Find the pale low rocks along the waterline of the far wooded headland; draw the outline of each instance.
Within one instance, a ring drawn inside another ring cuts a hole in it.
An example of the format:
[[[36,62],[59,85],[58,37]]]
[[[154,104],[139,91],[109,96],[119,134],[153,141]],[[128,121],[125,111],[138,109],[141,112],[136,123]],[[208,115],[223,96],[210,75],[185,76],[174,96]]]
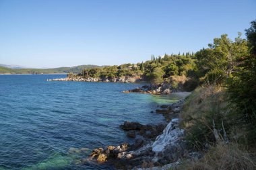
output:
[[[136,77],[119,77],[113,79],[100,79],[100,78],[84,78],[84,77],[66,77],[60,79],[47,79],[47,81],[84,81],[84,82],[117,82],[117,83],[135,83],[141,81]]]

